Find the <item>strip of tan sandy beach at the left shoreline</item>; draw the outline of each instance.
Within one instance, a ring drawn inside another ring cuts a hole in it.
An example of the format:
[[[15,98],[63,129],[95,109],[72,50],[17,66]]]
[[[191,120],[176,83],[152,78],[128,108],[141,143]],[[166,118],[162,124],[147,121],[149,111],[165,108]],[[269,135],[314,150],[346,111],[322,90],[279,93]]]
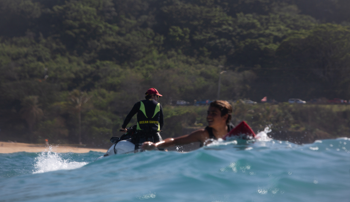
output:
[[[89,151],[106,152],[106,149],[81,148],[65,145],[45,145],[45,144],[27,144],[18,142],[0,142],[0,153],[14,153],[14,152],[42,152],[52,151],[57,153],[86,153]]]

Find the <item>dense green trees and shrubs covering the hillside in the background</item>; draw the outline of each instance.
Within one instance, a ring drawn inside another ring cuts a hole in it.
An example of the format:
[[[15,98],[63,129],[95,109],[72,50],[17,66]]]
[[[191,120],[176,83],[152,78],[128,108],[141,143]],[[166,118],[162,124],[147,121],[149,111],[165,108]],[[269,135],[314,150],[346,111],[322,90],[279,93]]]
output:
[[[180,135],[205,126],[206,107],[170,103],[217,99],[221,71],[220,99],[350,99],[349,8],[348,0],[2,0],[0,140],[105,144],[152,87],[163,95],[162,136]],[[246,107],[235,104],[235,124],[270,126],[276,139],[350,134],[347,108]]]

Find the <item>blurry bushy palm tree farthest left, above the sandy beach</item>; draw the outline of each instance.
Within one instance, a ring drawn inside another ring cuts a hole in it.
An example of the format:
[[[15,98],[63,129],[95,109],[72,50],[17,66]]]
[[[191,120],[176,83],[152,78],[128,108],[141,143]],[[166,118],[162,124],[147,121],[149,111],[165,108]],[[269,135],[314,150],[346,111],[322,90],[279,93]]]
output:
[[[38,96],[27,96],[22,100],[22,108],[20,110],[21,117],[26,120],[28,124],[29,133],[33,135],[33,126],[44,115],[43,111],[39,108]],[[33,139],[31,139],[33,142]]]

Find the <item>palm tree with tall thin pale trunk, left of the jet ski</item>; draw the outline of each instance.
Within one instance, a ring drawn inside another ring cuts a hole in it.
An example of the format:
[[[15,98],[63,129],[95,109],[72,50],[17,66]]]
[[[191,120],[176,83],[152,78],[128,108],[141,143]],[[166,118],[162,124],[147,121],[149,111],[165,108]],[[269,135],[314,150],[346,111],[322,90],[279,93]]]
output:
[[[73,90],[72,92],[69,93],[69,98],[70,98],[70,104],[71,104],[71,109],[73,111],[78,113],[78,118],[79,118],[79,136],[78,136],[78,142],[79,144],[82,144],[82,117],[81,117],[81,112],[83,109],[83,105],[89,101],[89,99],[92,96],[88,96],[86,92],[81,92],[79,90]]]

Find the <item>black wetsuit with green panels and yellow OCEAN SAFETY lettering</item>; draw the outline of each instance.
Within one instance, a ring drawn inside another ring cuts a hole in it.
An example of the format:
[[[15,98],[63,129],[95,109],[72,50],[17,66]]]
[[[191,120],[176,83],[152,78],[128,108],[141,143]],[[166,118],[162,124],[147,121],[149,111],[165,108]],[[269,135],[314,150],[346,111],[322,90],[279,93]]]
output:
[[[135,150],[146,141],[159,142],[162,137],[159,131],[164,125],[163,107],[154,99],[137,102],[126,116],[122,128],[126,128],[131,118],[137,113],[137,133],[132,136]]]

